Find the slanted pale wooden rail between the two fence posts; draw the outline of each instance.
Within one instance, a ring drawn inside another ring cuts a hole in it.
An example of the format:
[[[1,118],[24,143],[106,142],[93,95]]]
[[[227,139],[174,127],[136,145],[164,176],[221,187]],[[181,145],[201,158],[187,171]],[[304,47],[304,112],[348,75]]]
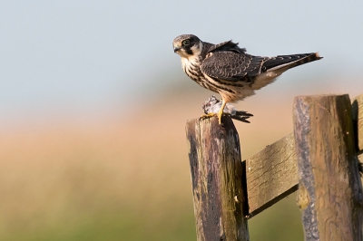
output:
[[[298,189],[295,140],[292,133],[246,159],[249,217]]]

